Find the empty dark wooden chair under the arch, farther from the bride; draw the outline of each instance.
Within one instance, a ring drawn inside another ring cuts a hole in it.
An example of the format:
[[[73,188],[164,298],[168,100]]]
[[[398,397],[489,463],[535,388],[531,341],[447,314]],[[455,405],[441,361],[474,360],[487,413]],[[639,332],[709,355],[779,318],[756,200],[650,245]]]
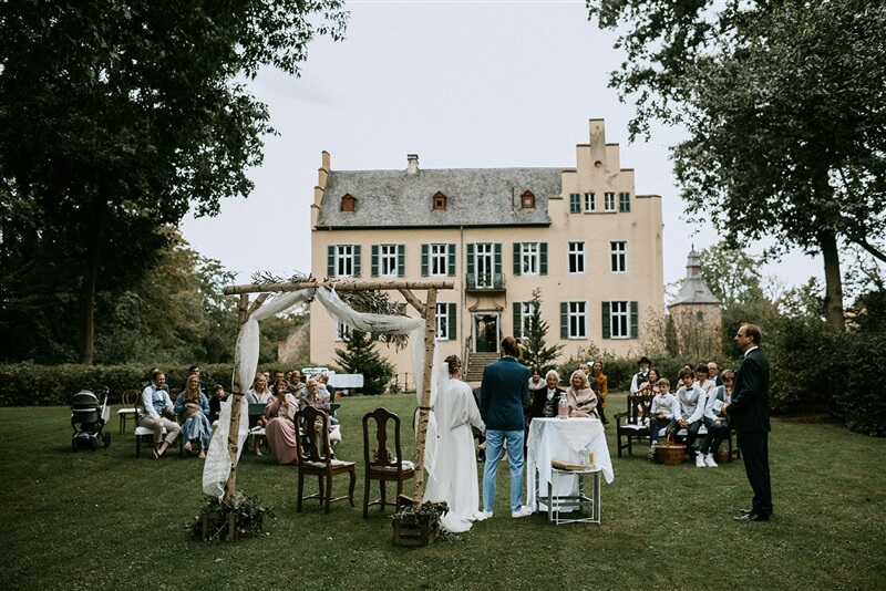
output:
[[[318,421],[320,422],[319,428],[316,426]],[[351,507],[354,507],[353,487],[357,481],[357,465],[353,462],[341,462],[332,457],[329,443],[329,416],[313,406],[306,406],[296,413],[296,424],[305,425],[303,431],[308,438],[307,445],[296,445],[298,453],[298,505],[296,511],[301,512],[301,501],[305,499],[319,499],[321,505],[326,504],[327,514],[329,506],[339,500],[348,499]],[[346,473],[351,478],[348,495],[332,498],[332,477]],[[317,495],[303,496],[306,476],[317,476],[320,484]],[[323,479],[326,479],[326,488]]]

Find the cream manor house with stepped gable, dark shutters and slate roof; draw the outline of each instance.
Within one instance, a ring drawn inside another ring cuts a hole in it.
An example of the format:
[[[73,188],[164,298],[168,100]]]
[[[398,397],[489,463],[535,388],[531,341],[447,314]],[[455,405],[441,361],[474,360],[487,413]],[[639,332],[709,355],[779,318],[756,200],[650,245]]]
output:
[[[436,304],[443,356],[494,359],[503,336],[522,335],[535,289],[562,359],[591,343],[642,353],[645,318],[663,312],[661,198],[636,194],[604,121],[589,125],[574,168],[424,169],[409,155],[405,169],[336,170],[323,152],[313,276],[453,281]],[[315,302],[311,360],[333,362],[344,330]],[[409,350],[380,350],[411,375]]]

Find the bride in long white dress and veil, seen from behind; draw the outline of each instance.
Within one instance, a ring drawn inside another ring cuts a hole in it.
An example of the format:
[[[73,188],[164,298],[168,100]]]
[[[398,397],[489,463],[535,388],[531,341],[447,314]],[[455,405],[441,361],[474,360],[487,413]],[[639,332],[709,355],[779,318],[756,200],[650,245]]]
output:
[[[459,380],[462,360],[450,355],[440,372],[434,412],[437,424],[436,462],[429,474],[424,500],[445,500],[449,512],[441,518],[446,531],[459,533],[471,529],[480,507],[476,454],[471,425],[486,429],[480,418],[471,388]]]

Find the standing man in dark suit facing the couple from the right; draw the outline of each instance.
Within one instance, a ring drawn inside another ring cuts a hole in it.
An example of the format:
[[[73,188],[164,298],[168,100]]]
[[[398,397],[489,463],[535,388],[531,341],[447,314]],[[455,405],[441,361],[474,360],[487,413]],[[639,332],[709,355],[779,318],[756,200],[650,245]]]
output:
[[[766,521],[772,515],[772,485],[769,475],[769,363],[760,351],[763,333],[755,324],[742,324],[735,344],[744,360],[735,373],[732,400],[723,409],[739,433],[744,470],[754,491],[753,507],[742,509],[738,521]]]

